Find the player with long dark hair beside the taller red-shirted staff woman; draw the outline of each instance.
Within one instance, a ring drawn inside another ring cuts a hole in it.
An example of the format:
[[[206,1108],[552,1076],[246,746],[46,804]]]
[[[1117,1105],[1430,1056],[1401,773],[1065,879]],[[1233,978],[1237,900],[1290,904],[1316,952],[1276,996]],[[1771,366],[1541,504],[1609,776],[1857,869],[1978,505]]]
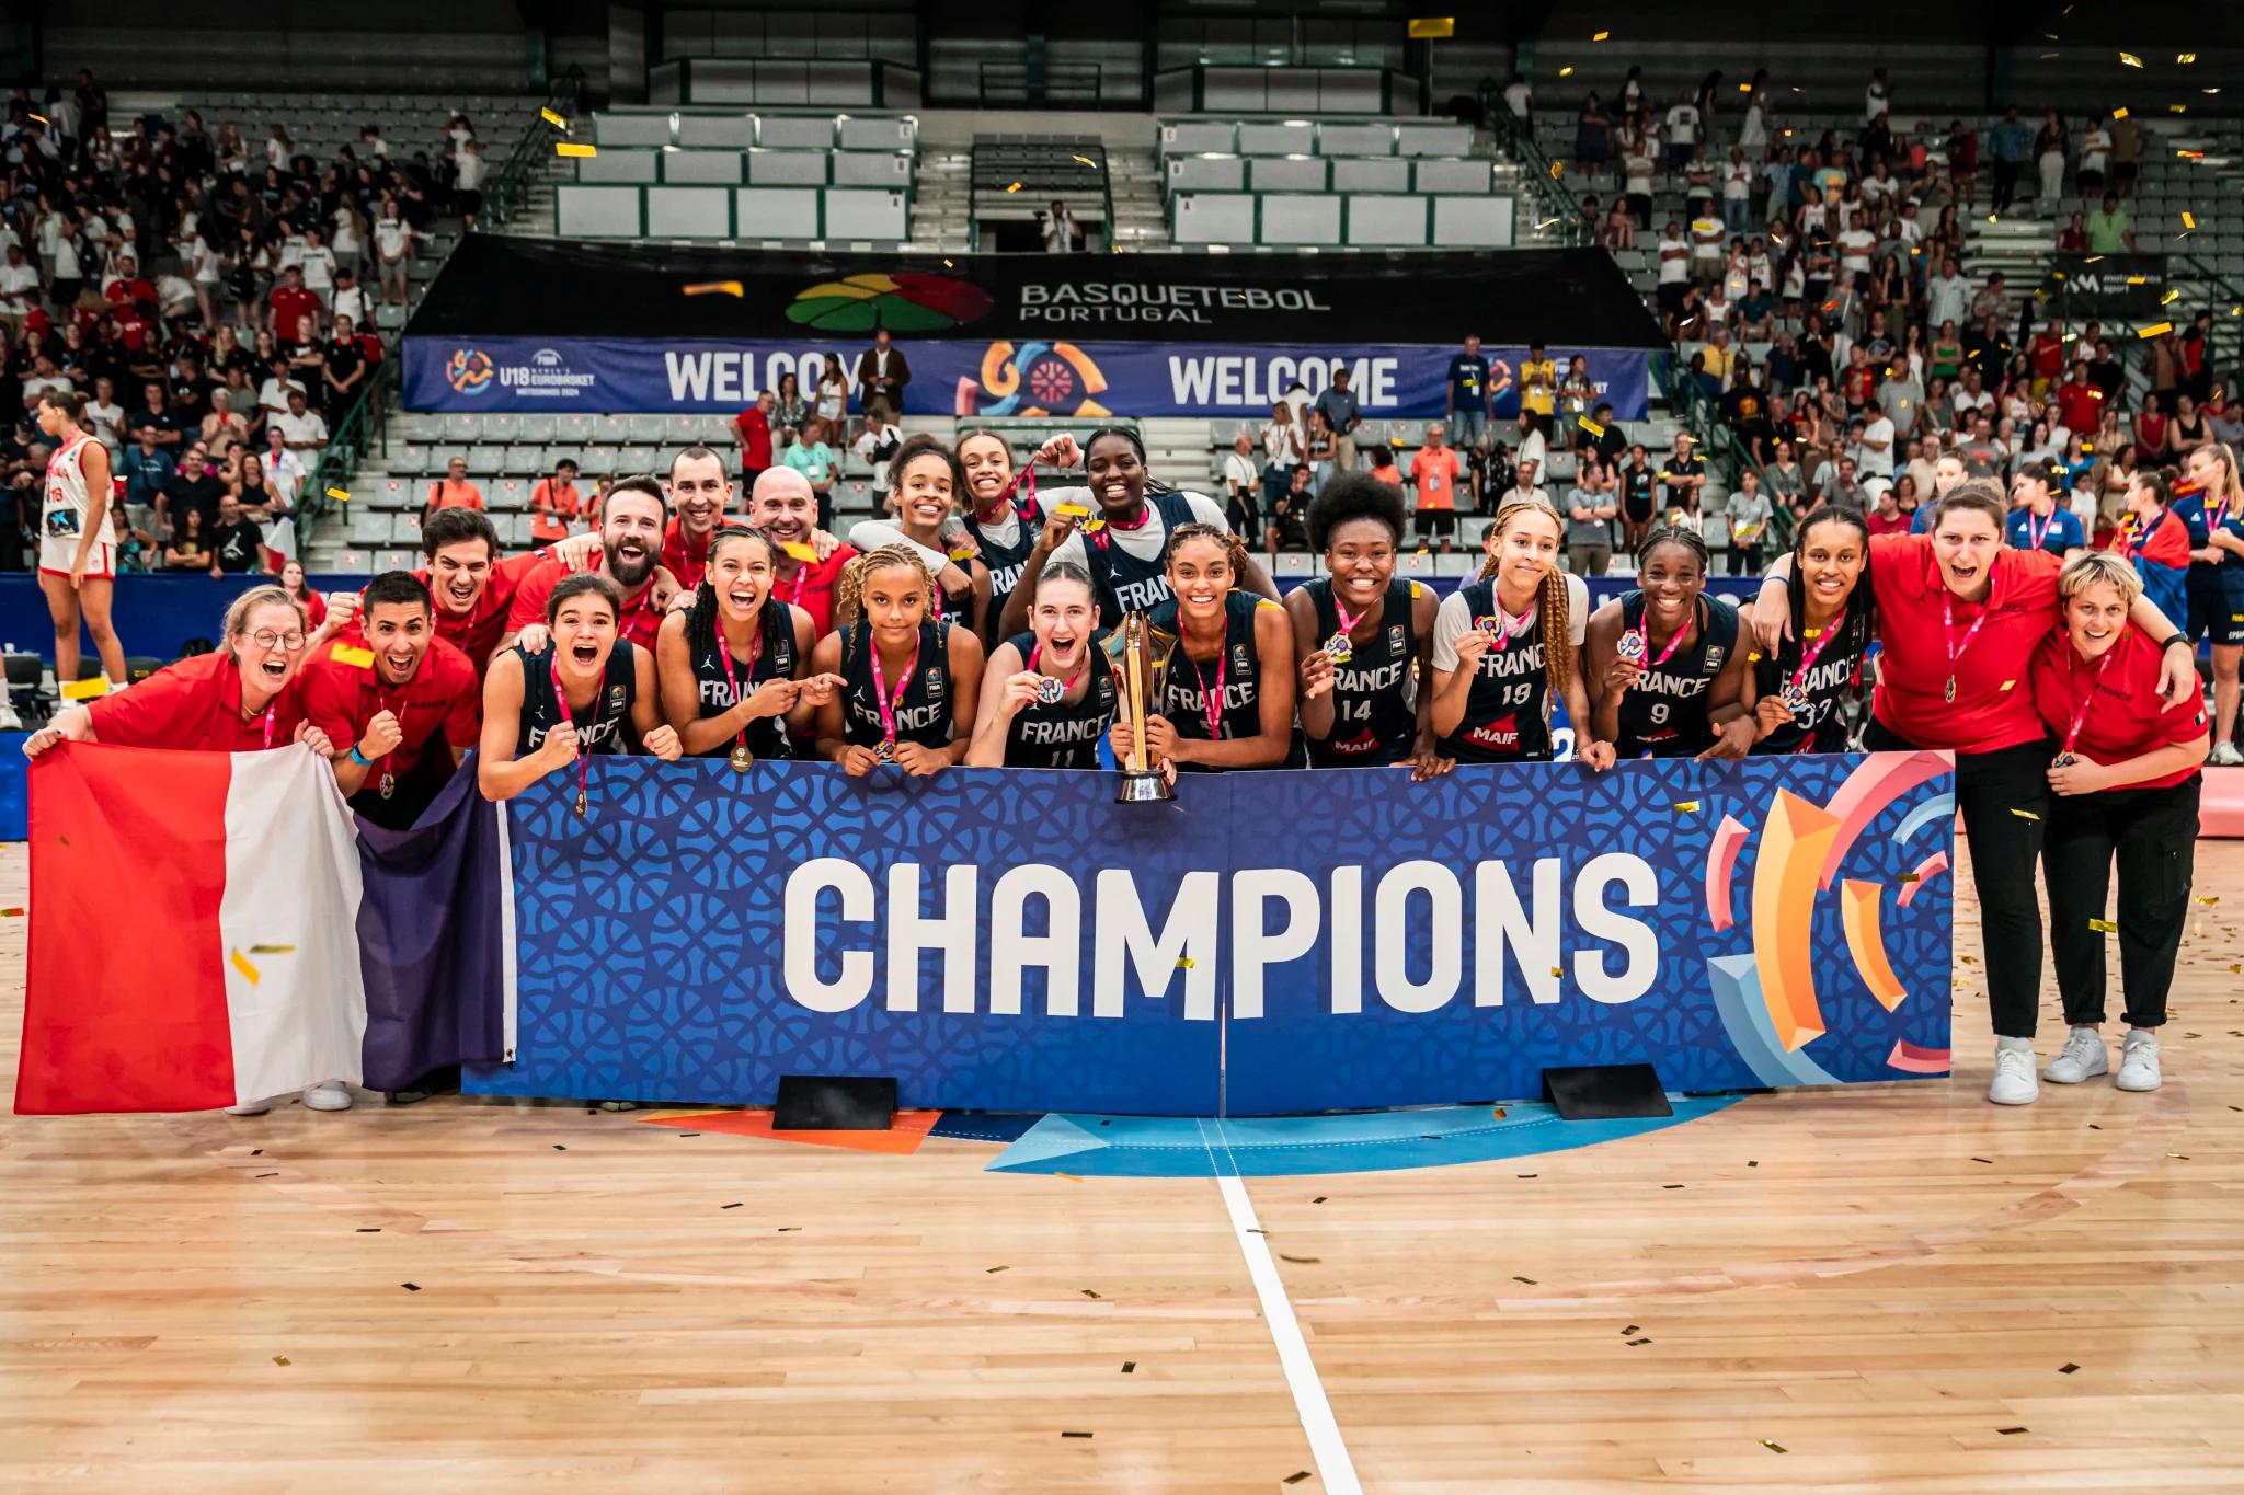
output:
[[[1753,666],[1755,753],[1845,753],[1845,704],[1863,690],[1876,639],[1869,598],[1869,520],[1854,504],[1813,509],[1793,536],[1793,630],[1775,652],[1746,650]]]

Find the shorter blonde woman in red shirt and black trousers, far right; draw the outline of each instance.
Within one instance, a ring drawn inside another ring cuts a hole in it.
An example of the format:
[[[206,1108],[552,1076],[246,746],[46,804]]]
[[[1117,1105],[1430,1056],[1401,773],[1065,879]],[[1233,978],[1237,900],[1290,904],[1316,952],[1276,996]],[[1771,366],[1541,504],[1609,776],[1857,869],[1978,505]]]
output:
[[[2197,796],[2213,733],[2204,699],[2165,706],[2159,646],[2127,623],[2143,583],[2112,551],[2076,556],[2058,576],[2064,625],[2033,652],[2033,706],[2056,733],[2049,764],[2049,950],[2064,1000],[2064,1053],[2044,1080],[2078,1085],[2112,1071],[2105,1018],[2105,912],[2118,867],[2121,993],[2127,1038],[2118,1089],[2159,1089],[2159,1027],[2174,982],[2174,950],[2190,910]]]

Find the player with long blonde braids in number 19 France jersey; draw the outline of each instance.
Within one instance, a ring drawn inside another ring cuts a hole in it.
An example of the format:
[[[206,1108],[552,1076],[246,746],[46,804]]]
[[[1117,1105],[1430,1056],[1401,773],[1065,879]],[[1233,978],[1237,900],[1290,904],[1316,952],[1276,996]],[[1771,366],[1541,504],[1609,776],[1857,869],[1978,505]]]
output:
[[[1582,681],[1589,585],[1557,565],[1557,511],[1530,498],[1506,502],[1481,545],[1481,574],[1434,614],[1436,751],[1454,762],[1548,760],[1551,706],[1564,702],[1575,758],[1611,769],[1613,746],[1591,731]]]

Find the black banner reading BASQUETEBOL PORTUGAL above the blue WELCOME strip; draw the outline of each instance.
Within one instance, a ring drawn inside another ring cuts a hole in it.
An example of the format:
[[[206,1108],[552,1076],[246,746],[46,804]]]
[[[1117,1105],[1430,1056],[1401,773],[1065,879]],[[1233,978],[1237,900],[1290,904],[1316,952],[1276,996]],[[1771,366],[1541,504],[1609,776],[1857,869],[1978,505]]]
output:
[[[898,256],[473,233],[408,338],[1048,338],[1665,347],[1602,249]]]

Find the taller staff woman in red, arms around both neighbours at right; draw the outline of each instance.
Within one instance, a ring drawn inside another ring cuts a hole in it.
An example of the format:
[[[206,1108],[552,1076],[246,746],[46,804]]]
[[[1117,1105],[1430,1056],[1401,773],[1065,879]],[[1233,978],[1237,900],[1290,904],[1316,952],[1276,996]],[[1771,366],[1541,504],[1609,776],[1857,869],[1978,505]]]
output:
[[[2042,912],[2033,867],[2049,816],[2049,744],[2026,686],[2026,661],[2058,619],[2058,558],[2004,545],[2008,504],[1984,480],[1939,500],[1930,536],[1876,536],[1869,585],[1885,661],[1871,695],[1871,751],[1957,755],[1957,807],[1979,890],[1995,1078],[1988,1101],[2026,1105],[2042,988]],[[1771,567],[1755,605],[1762,650],[1788,628],[1791,556]],[[2134,623],[2161,646],[2159,695],[2197,690],[2190,646],[2134,601]]]

